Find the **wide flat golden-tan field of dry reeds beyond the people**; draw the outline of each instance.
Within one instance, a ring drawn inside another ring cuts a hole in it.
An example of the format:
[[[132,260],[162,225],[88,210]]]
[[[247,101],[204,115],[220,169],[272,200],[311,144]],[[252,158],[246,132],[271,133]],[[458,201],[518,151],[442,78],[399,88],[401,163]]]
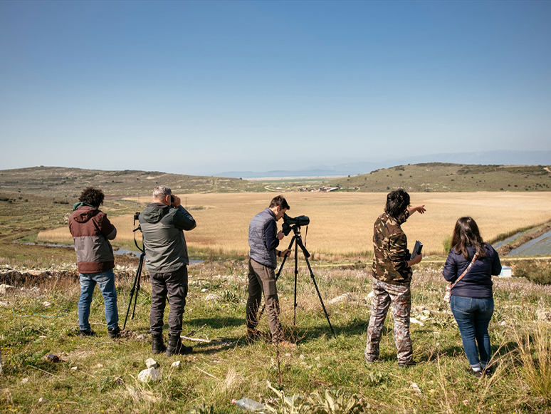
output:
[[[273,193],[189,194],[196,229],[186,232],[190,247],[246,254],[248,223],[267,207]],[[346,255],[372,252],[372,226],[382,213],[386,195],[360,192],[288,192],[291,217],[310,217],[307,247],[316,254]],[[143,200],[143,198],[141,199]],[[182,197],[182,202],[184,198]],[[453,231],[458,217],[470,215],[481,228],[484,239],[519,227],[540,224],[551,219],[551,192],[497,193],[446,192],[411,193],[411,205],[424,204],[426,214],[415,213],[402,225],[409,248],[416,239],[424,244],[426,254],[444,254],[443,240]],[[145,205],[137,206],[142,209]],[[108,213],[108,210],[107,210]],[[118,229],[117,241],[130,242],[132,216],[110,217]],[[282,222],[278,222],[278,226]],[[303,238],[305,229],[303,229]],[[38,234],[43,242],[72,242],[68,228],[51,229]],[[281,246],[287,247],[290,237]]]

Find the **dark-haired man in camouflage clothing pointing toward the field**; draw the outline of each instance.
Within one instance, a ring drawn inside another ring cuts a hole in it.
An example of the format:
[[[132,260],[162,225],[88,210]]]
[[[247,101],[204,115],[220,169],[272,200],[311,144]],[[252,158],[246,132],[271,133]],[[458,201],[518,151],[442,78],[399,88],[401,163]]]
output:
[[[411,266],[421,262],[421,255],[410,260],[407,237],[400,226],[416,211],[423,214],[426,210],[424,205],[410,209],[409,194],[405,190],[389,192],[384,213],[377,218],[373,227],[374,296],[364,353],[367,363],[379,358],[382,327],[392,304],[398,365],[405,367],[414,364],[409,338]]]

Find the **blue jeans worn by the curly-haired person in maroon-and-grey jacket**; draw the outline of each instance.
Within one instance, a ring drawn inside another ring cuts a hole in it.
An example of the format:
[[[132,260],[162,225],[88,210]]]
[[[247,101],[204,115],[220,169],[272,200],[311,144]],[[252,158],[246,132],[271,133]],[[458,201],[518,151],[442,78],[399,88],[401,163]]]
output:
[[[98,284],[105,302],[105,319],[107,329],[119,326],[119,311],[117,309],[117,291],[115,290],[115,274],[113,270],[100,273],[80,273],[80,300],[78,301],[78,325],[80,331],[90,330],[90,304],[95,284]]]

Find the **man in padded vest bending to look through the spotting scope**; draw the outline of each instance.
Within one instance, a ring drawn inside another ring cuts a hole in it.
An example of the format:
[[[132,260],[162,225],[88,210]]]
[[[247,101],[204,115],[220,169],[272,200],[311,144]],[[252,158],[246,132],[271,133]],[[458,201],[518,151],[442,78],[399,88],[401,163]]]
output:
[[[285,237],[278,232],[276,222],[289,209],[283,196],[274,197],[270,206],[256,214],[248,227],[248,299],[247,299],[247,336],[251,339],[260,337],[258,325],[258,306],[264,293],[264,304],[268,315],[268,325],[272,333],[273,343],[293,347],[294,344],[285,341],[279,321],[278,289],[275,286],[275,266],[277,257],[288,257],[290,249],[277,249],[279,241]]]

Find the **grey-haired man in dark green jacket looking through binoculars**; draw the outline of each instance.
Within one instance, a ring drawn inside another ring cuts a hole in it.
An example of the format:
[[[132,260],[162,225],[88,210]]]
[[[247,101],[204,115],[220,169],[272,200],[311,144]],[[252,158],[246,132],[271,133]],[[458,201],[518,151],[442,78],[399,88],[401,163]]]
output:
[[[151,279],[151,312],[149,332],[152,335],[152,352],[172,354],[191,353],[191,346],[182,345],[182,316],[187,296],[187,254],[183,230],[192,230],[196,223],[180,199],[172,195],[169,187],[159,185],[153,190],[152,203],[140,214],[145,268]],[[164,307],[170,304],[168,317],[169,340],[164,346],[162,326]]]

